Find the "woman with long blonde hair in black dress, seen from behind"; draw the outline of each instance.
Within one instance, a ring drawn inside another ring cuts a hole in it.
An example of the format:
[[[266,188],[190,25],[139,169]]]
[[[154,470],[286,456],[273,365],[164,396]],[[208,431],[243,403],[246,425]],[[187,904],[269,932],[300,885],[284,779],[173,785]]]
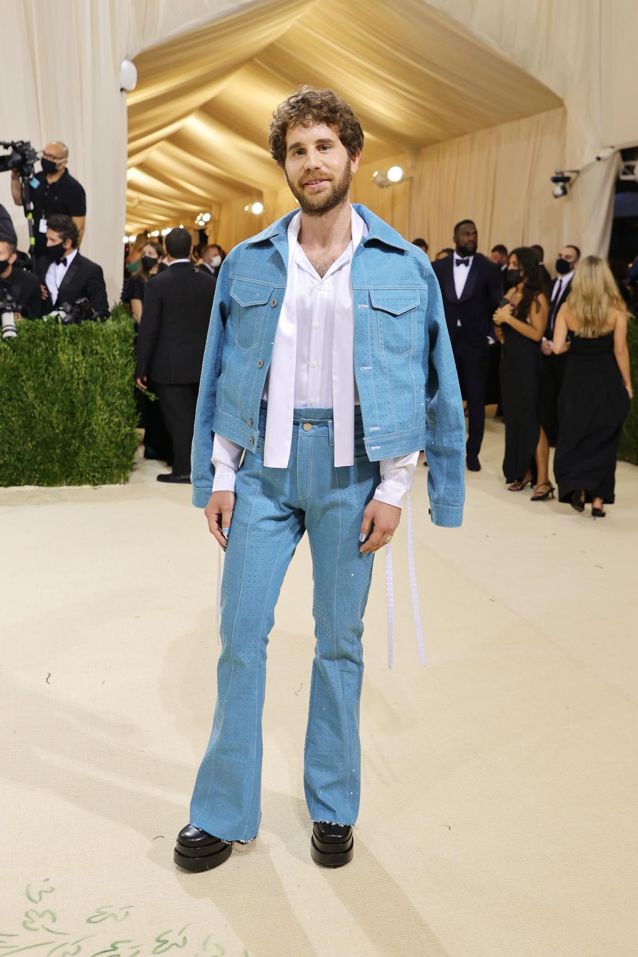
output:
[[[615,498],[616,455],[633,398],[627,350],[627,306],[611,270],[585,256],[556,318],[554,351],[571,340],[559,396],[554,475],[560,501],[604,518]]]

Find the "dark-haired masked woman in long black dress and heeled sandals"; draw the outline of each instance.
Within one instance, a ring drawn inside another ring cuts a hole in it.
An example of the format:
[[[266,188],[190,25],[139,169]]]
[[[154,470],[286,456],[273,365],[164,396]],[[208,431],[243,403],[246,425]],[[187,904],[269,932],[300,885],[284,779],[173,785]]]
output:
[[[549,476],[541,474],[540,340],[547,323],[548,302],[541,292],[539,260],[531,249],[510,253],[507,303],[496,310],[496,336],[502,343],[500,389],[505,417],[503,472],[511,492],[536,483],[533,501],[553,497]]]

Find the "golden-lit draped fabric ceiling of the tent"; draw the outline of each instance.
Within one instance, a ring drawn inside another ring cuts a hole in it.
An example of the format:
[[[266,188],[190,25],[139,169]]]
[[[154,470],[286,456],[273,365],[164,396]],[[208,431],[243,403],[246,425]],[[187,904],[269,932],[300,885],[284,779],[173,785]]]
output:
[[[302,82],[336,89],[377,162],[561,106],[559,97],[422,0],[273,0],[135,58],[127,230],[218,219],[281,189],[273,109]]]

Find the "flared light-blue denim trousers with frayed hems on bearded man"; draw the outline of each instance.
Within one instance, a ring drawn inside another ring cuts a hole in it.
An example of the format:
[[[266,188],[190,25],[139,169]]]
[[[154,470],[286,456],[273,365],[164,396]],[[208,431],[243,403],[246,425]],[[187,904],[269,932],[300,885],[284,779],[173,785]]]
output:
[[[363,612],[374,560],[361,554],[359,534],[380,473],[365,455],[359,407],[354,464],[335,468],[332,418],[331,409],[296,409],[288,468],[265,468],[262,403],[257,448],[237,473],[221,588],[217,701],[190,804],[190,823],[224,840],[247,843],[259,830],[266,650],[279,590],[304,531],[316,642],[303,788],[312,820],[357,820]]]

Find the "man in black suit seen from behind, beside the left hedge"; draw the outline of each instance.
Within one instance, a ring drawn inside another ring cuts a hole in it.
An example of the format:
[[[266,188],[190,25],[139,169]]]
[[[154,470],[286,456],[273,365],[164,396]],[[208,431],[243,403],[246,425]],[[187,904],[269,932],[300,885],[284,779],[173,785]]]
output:
[[[191,246],[185,229],[166,235],[168,268],[146,283],[138,333],[136,382],[146,389],[152,379],[173,441],[173,471],[158,481],[190,481],[195,407],[216,285],[193,267]]]

